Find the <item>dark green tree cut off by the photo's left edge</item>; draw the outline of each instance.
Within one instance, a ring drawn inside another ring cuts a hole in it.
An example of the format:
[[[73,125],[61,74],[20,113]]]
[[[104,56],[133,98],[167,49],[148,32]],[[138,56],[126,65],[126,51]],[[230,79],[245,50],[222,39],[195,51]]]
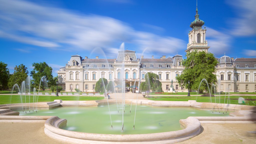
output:
[[[0,61],[0,89],[5,90],[8,85],[10,77],[9,69],[7,68],[7,64]]]

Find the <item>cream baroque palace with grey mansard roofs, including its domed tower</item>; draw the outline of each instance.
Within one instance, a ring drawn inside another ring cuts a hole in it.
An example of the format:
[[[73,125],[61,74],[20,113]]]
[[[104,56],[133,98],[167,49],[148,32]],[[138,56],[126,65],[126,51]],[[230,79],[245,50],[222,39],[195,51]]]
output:
[[[185,52],[193,50],[208,52],[206,29],[202,28],[204,21],[199,19],[198,9],[196,8],[195,20],[191,22],[192,28],[188,34],[188,44]],[[215,74],[220,81],[218,90],[223,92],[256,92],[256,58],[231,58],[222,56],[216,58],[218,64]],[[145,81],[145,74],[155,73],[159,76],[164,92],[168,92],[171,81],[173,80],[174,89],[177,92],[187,92],[183,86],[179,86],[176,76],[184,70],[182,66],[182,56],[174,57],[162,56],[161,58],[138,58],[135,51],[119,51],[115,59],[84,58],[79,55],[71,56],[68,64],[58,71],[59,84],[66,91],[75,88],[83,92],[94,92],[95,84],[100,78],[114,81],[115,85],[136,87],[140,82]],[[117,89],[117,88],[116,88]],[[129,90],[129,88],[127,88]]]

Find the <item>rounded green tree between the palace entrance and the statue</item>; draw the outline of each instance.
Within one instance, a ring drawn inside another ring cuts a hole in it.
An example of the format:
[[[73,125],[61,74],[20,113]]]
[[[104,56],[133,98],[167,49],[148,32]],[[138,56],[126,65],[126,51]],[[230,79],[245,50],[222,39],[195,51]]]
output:
[[[145,82],[140,84],[142,91],[149,91],[152,89],[153,92],[162,92],[162,83],[158,80],[159,77],[154,73],[146,73]]]

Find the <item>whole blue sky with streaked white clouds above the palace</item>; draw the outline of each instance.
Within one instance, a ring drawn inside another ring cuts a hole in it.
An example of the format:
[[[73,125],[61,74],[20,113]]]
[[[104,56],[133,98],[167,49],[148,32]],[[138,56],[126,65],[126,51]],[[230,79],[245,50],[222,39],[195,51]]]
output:
[[[198,0],[209,51],[216,57],[256,57],[255,0]],[[71,55],[116,58],[120,45],[140,58],[185,58],[194,1],[0,0],[0,61],[10,73],[45,61],[53,75]]]

